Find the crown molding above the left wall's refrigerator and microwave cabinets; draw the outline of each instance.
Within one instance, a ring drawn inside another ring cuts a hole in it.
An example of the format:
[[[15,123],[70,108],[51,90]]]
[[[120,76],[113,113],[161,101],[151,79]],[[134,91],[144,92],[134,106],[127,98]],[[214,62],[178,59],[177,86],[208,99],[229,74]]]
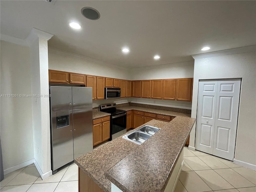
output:
[[[54,48],[54,47],[51,47],[51,46],[48,46],[48,52],[52,52],[52,53],[56,53],[56,54],[60,54],[60,55],[65,55],[65,56],[69,56],[69,57],[72,57],[72,58],[76,58],[76,59],[80,59],[80,60],[84,60],[84,61],[88,61],[88,62],[93,62],[93,63],[97,63],[97,64],[104,65],[104,66],[110,66],[110,67],[120,68],[120,69],[125,69],[125,70],[128,69],[128,68],[116,66],[114,64],[110,64],[108,62],[104,62],[104,61],[101,61],[101,60],[98,60],[98,59],[94,59],[94,58],[91,58],[91,57],[87,57],[87,56],[79,55],[79,54],[76,54],[76,53],[60,50],[58,48]]]

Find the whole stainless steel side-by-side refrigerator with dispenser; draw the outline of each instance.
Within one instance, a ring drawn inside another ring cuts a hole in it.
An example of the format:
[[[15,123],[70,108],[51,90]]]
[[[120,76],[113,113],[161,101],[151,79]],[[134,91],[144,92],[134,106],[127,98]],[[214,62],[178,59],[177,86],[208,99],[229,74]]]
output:
[[[92,88],[50,86],[52,172],[92,150]]]

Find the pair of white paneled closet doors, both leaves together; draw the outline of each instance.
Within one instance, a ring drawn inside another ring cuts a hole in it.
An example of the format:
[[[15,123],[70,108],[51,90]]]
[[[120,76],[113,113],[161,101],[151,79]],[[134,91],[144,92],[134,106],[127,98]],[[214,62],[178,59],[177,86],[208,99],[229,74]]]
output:
[[[234,160],[240,79],[200,81],[196,149]]]

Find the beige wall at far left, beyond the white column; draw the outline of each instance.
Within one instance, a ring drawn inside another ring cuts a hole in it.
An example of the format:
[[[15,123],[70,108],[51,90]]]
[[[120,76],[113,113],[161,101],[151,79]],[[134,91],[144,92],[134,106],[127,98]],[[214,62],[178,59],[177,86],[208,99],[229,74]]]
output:
[[[30,50],[1,41],[1,94],[31,94]],[[4,170],[34,159],[32,98],[1,97]]]

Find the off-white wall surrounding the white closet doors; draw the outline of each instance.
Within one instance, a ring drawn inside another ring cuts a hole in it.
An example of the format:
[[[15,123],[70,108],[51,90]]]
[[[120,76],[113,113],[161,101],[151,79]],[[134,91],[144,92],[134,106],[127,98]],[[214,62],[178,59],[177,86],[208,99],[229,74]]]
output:
[[[196,118],[198,82],[200,79],[242,78],[238,128],[236,136],[236,163],[256,168],[256,52],[229,54],[195,60],[192,117]],[[194,147],[196,126],[190,134]]]

